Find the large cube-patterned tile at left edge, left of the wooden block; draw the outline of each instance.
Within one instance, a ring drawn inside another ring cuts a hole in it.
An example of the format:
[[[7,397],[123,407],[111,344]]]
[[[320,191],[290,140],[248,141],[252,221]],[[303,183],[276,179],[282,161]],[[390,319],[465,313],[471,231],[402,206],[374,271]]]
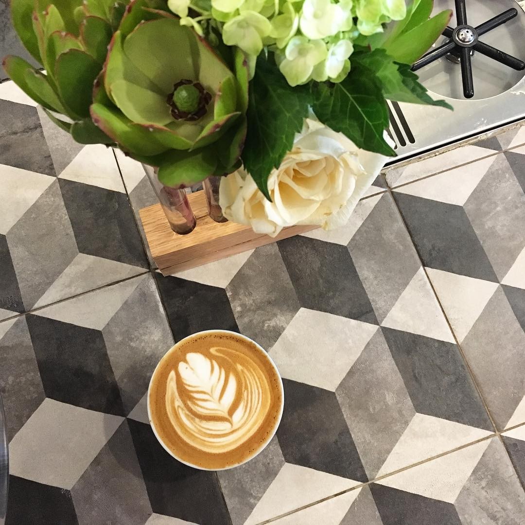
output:
[[[112,150],[76,144],[13,86],[0,84],[0,319],[148,268]]]

